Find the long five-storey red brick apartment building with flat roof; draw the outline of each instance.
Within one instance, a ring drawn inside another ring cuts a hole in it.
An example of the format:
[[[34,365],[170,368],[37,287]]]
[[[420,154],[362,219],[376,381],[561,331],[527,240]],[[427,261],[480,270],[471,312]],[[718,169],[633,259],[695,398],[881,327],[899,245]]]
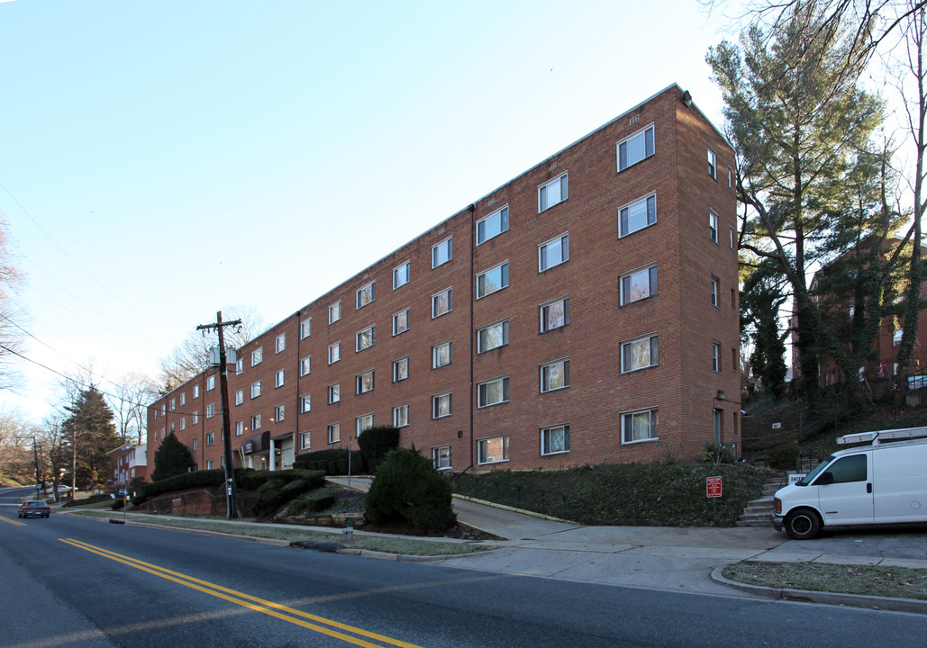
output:
[[[674,84],[479,198],[238,349],[235,465],[383,424],[452,471],[739,453],[733,165]],[[170,432],[222,466],[215,369]]]

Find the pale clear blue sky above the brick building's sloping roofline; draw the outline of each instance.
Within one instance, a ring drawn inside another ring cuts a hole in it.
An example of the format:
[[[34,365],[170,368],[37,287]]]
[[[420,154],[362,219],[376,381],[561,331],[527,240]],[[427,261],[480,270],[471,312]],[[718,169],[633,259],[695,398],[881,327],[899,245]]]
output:
[[[673,82],[721,127],[730,27],[695,0],[0,2],[25,355],[154,375],[223,306],[285,318]],[[57,376],[19,367],[0,407],[38,420]]]

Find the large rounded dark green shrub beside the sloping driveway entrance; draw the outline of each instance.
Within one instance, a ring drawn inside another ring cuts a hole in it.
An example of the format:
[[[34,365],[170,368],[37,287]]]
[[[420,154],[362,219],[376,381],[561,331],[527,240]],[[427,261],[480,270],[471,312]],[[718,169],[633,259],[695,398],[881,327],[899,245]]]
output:
[[[416,530],[431,531],[457,522],[451,482],[414,448],[389,451],[370,484],[364,508],[364,517],[374,524],[403,520]]]

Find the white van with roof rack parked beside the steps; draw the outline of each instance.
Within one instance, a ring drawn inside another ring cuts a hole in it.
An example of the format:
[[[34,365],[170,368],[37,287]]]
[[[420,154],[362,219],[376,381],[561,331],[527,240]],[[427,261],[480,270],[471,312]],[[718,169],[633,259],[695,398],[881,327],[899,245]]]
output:
[[[840,450],[776,492],[772,526],[795,540],[821,527],[927,522],[927,427],[847,434]]]

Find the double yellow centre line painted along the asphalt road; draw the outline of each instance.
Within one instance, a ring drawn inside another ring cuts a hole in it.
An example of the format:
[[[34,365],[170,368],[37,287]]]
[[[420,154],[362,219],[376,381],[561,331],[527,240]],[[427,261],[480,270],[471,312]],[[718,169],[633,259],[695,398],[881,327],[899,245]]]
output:
[[[12,522],[12,520],[6,521]],[[416,646],[413,643],[400,642],[399,640],[391,639],[381,634],[376,634],[375,632],[369,632],[361,628],[354,628],[353,626],[339,623],[338,621],[333,621],[332,619],[318,617],[308,612],[303,612],[302,610],[297,610],[292,607],[287,607],[286,605],[273,603],[273,601],[267,601],[265,599],[258,598],[257,596],[251,596],[250,594],[246,594],[244,592],[236,592],[235,590],[222,587],[222,585],[216,585],[215,583],[210,583],[207,580],[195,579],[192,576],[186,576],[180,572],[171,571],[171,569],[158,567],[157,565],[152,565],[151,563],[137,560],[128,555],[117,554],[115,552],[108,551],[107,549],[96,547],[93,544],[87,544],[86,542],[80,542],[70,538],[61,538],[59,540],[61,542],[70,544],[73,547],[77,547],[78,549],[83,549],[84,551],[90,552],[91,554],[101,555],[104,558],[109,558],[110,560],[113,560],[117,563],[122,563],[123,565],[128,565],[129,567],[140,569],[162,579],[171,580],[171,582],[184,585],[184,587],[197,590],[197,592],[210,594],[216,598],[222,599],[223,601],[241,605],[242,607],[247,607],[249,610],[260,612],[261,614],[265,614],[268,617],[279,618],[283,621],[287,621],[302,628],[311,629],[315,632],[321,632],[322,634],[329,637],[334,637],[335,639],[340,639],[344,642],[353,643],[357,646],[365,646],[365,648],[383,648],[383,645],[386,644],[390,646],[399,646],[399,648],[419,648],[419,646]],[[368,642],[365,639],[362,639],[362,637],[379,643]]]

